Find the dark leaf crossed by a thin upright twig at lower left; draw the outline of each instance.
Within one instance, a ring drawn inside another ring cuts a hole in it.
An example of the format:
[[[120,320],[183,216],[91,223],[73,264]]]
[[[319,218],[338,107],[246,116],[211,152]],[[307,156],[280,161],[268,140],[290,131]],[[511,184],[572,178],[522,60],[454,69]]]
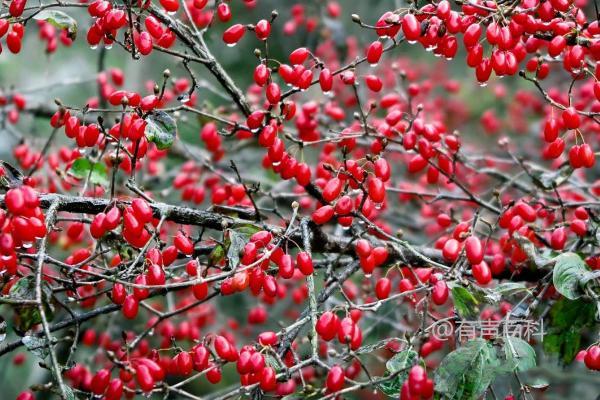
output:
[[[9,296],[17,300],[35,300],[35,277],[26,276],[19,279],[9,291]],[[42,282],[42,300],[44,303],[44,311],[46,312],[46,318],[51,321],[54,317],[54,308],[49,303],[49,299],[52,297],[52,289],[46,282]],[[18,332],[26,332],[31,329],[34,325],[42,322],[40,310],[36,305],[23,304],[16,305],[14,307],[15,313],[17,314],[15,329]]]

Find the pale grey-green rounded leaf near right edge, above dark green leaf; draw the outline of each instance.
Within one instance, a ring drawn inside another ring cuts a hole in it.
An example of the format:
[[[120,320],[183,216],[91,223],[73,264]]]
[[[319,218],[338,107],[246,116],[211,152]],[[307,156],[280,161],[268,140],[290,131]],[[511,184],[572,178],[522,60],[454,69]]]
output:
[[[589,271],[585,262],[575,253],[563,253],[554,261],[552,281],[556,290],[569,300],[581,297],[579,282]]]

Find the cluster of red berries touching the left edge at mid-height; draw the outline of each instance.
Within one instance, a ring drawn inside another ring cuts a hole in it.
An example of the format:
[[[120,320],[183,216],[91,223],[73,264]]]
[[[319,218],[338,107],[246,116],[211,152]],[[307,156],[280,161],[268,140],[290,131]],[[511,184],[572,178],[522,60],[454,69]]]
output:
[[[17,272],[16,250],[29,248],[46,236],[44,214],[35,190],[27,185],[9,189],[0,210],[0,267],[10,275]]]

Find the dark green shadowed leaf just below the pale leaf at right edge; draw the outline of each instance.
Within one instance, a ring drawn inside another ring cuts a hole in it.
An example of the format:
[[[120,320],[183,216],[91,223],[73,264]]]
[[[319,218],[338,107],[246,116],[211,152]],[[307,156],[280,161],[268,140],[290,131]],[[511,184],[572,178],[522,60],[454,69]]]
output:
[[[561,298],[550,309],[544,336],[544,350],[557,354],[569,364],[580,350],[583,328],[595,321],[596,306],[581,299]]]

